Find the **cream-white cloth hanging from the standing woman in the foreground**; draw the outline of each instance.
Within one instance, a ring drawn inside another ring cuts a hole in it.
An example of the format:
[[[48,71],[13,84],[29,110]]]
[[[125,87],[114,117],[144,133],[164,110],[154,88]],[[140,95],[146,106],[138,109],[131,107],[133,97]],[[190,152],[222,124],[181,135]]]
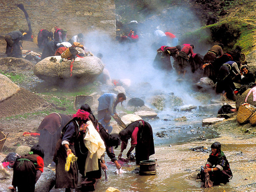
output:
[[[86,130],[86,136],[83,139],[84,145],[86,145],[86,147],[88,148],[86,166],[84,169],[85,175],[87,172],[99,169],[98,159],[100,159],[100,157],[105,152],[104,141],[101,139],[99,133],[93,126],[92,121],[87,121],[87,125],[88,127]]]

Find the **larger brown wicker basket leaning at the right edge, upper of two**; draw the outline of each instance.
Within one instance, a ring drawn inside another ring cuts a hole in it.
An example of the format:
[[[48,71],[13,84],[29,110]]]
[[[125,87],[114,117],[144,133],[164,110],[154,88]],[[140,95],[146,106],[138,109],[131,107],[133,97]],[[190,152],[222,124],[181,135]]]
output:
[[[239,106],[237,120],[239,123],[245,123],[256,111],[255,106],[244,103]]]

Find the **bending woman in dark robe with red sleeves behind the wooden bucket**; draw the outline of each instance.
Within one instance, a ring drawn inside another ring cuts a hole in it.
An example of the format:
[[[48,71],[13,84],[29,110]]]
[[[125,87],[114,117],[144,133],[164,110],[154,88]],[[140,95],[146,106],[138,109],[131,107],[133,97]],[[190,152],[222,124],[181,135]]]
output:
[[[125,150],[130,138],[131,148],[126,156],[129,157],[135,148],[136,164],[140,164],[140,161],[149,160],[150,156],[155,154],[153,131],[150,123],[143,120],[132,122],[119,133],[119,136],[122,140],[119,159],[122,157],[123,150]]]

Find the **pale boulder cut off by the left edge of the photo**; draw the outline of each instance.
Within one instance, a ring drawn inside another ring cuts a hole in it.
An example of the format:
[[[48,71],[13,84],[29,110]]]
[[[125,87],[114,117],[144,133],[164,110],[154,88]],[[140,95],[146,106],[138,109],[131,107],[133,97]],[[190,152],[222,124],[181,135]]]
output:
[[[0,82],[1,82],[0,101],[3,101],[11,97],[13,94],[15,94],[19,90],[19,87],[5,75],[0,74]]]

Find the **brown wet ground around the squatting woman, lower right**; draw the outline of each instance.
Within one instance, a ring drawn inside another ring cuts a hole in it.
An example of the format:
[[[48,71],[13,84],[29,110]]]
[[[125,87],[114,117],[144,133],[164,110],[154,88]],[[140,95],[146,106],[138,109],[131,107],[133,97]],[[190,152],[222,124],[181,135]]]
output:
[[[207,146],[212,142],[222,143],[222,149],[227,156],[233,173],[233,178],[225,185],[212,188],[202,188],[203,183],[196,180],[188,180],[191,173],[198,173],[200,165],[206,162],[209,154],[195,152],[191,147]],[[96,192],[105,191],[112,186],[120,191],[256,191],[256,168],[254,149],[255,138],[230,137],[223,134],[222,137],[192,143],[184,143],[172,146],[157,146],[156,154],[151,157],[157,161],[157,174],[153,176],[140,176],[134,173],[137,167],[135,163],[123,165],[126,173],[117,175],[115,166],[108,165],[108,181],[102,172],[102,178],[97,182]],[[108,161],[108,160],[107,160]],[[52,189],[51,191],[64,191]],[[76,190],[82,191],[82,190]]]

